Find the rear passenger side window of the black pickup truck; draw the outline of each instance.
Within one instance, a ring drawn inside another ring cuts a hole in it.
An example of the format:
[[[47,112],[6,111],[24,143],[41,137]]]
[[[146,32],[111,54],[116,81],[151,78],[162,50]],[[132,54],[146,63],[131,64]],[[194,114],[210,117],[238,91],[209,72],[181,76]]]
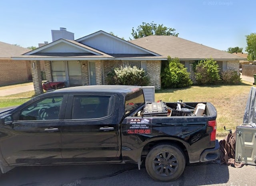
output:
[[[74,96],[71,119],[94,119],[111,114],[111,96],[78,95]]]

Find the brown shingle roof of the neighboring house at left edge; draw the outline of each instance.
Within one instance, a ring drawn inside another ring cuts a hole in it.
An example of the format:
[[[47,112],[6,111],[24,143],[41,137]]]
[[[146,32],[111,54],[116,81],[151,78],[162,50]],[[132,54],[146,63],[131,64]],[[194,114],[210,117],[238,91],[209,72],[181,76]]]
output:
[[[30,49],[0,42],[0,58],[11,58],[12,56],[21,55],[28,51]]]

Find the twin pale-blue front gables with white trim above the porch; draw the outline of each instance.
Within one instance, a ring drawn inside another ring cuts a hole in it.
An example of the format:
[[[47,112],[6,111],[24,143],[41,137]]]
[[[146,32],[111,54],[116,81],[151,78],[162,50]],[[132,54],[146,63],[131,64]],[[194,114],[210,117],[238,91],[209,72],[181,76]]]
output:
[[[104,44],[109,42],[117,50],[124,47],[124,50],[121,49],[120,51],[128,52],[106,53],[101,49],[104,47],[108,49],[108,47],[106,45],[103,47],[102,42]],[[127,48],[128,50],[126,50]],[[16,60],[162,60],[164,57],[106,32],[98,31],[76,41],[59,39],[12,58]]]

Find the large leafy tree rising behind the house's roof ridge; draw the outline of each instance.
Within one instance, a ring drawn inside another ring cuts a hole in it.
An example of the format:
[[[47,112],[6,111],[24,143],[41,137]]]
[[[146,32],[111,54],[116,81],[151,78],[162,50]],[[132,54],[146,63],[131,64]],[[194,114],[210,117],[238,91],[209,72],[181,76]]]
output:
[[[158,36],[177,36],[178,33],[174,32],[174,28],[168,28],[163,24],[157,25],[153,21],[151,23],[142,22],[136,31],[132,28],[132,37],[134,39],[143,38],[145,36],[158,35]]]

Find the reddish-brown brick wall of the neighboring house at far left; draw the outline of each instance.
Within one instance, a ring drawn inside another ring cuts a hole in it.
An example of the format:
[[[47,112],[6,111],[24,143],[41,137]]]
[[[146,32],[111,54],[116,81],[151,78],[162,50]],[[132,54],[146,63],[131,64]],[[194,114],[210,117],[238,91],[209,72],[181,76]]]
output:
[[[29,61],[0,59],[0,85],[28,82],[31,79]]]

